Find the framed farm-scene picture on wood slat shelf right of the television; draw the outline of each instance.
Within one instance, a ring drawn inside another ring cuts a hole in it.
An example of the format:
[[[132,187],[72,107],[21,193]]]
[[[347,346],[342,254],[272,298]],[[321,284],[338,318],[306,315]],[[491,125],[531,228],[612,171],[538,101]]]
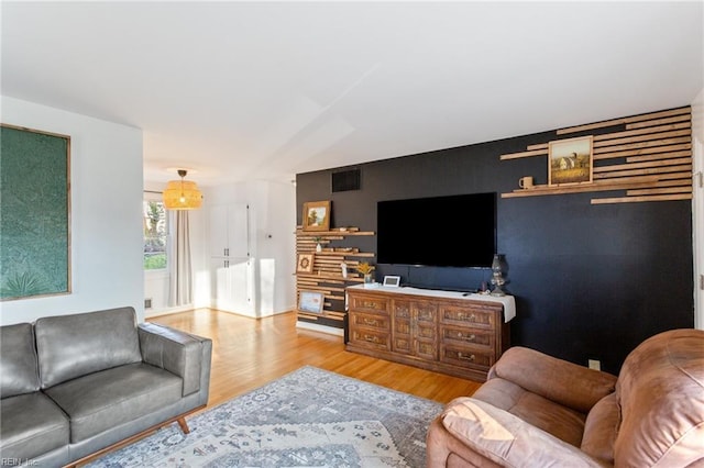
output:
[[[549,143],[548,185],[561,186],[592,181],[593,136]]]

